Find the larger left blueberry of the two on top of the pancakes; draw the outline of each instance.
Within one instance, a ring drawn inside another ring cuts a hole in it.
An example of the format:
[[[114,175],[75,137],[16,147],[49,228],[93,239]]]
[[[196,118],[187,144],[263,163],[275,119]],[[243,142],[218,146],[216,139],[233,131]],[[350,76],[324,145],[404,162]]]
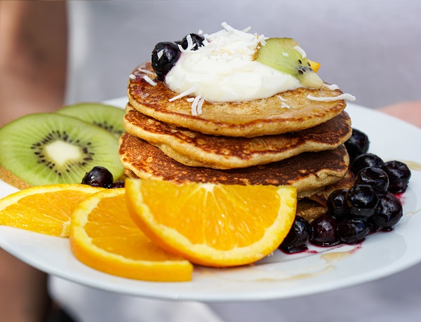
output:
[[[175,65],[180,57],[180,49],[176,43],[164,41],[156,43],[152,51],[152,68],[155,74],[163,78]]]

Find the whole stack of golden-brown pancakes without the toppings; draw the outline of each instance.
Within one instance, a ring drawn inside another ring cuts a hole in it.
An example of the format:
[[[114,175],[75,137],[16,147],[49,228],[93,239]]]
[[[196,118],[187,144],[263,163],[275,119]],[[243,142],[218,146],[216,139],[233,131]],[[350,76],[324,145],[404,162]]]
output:
[[[138,67],[128,84],[119,154],[129,177],[293,185],[297,214],[309,221],[326,213],[330,192],[352,186],[345,100],[307,98],[340,90],[298,88],[249,102],[204,102],[201,114],[192,115],[192,98],[173,100],[178,93],[148,71],[149,64]]]

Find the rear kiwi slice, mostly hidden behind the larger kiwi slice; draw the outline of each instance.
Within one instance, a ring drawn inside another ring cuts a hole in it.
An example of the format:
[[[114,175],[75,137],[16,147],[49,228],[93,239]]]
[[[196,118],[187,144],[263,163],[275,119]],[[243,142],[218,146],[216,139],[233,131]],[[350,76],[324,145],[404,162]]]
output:
[[[68,115],[104,128],[116,137],[124,133],[124,109],[101,103],[79,103],[62,107],[58,114]]]

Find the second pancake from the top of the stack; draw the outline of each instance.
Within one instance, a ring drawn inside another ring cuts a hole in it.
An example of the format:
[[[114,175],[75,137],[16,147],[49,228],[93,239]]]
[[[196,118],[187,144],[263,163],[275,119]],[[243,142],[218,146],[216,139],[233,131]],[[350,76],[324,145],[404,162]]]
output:
[[[206,135],[168,125],[126,107],[123,125],[185,166],[216,169],[246,168],[288,159],[302,152],[335,149],[352,134],[351,120],[344,111],[335,118],[300,132],[261,137]]]

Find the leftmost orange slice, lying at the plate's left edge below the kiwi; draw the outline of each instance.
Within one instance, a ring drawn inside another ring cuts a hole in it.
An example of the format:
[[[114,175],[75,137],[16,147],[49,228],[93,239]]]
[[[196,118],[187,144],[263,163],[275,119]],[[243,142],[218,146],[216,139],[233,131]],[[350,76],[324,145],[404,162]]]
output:
[[[70,215],[81,199],[102,190],[88,185],[44,185],[15,192],[0,200],[0,224],[69,236]]]

